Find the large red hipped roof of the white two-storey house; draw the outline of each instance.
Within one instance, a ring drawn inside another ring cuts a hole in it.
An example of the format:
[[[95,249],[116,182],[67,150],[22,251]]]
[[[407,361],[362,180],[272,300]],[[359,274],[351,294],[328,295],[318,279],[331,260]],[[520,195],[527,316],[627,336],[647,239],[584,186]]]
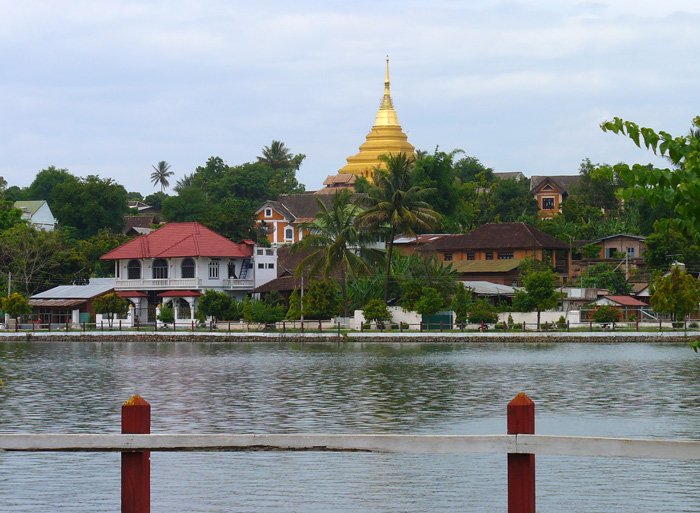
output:
[[[249,257],[253,245],[237,244],[199,223],[168,223],[122,244],[102,260],[131,258]]]

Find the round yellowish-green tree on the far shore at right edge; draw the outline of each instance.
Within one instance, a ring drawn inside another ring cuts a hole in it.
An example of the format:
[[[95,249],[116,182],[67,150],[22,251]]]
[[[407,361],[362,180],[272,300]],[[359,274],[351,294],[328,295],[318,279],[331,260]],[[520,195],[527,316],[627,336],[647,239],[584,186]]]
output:
[[[698,309],[700,286],[698,280],[679,266],[673,266],[668,276],[654,281],[654,293],[650,303],[659,313],[673,314],[674,321],[682,321],[685,316]]]

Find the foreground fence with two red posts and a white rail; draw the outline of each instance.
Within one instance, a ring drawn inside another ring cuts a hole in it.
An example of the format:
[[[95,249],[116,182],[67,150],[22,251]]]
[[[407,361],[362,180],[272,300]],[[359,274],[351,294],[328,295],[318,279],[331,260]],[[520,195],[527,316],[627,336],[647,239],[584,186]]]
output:
[[[0,434],[0,451],[121,452],[121,511],[150,512],[151,451],[365,451],[507,454],[508,512],[535,512],[535,456],[700,460],[700,441],[535,435],[535,404],[518,394],[507,406],[506,435],[150,434],[151,407],[139,396],[122,406],[122,434]]]

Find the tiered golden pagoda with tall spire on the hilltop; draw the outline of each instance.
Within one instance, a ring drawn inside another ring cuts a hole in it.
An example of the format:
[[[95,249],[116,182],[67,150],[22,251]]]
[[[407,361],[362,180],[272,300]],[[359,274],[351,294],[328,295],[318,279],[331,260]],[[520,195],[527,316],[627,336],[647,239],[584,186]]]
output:
[[[360,152],[348,157],[347,165],[338,174],[353,174],[364,176],[372,181],[374,168],[383,166],[379,155],[390,153],[405,153],[409,157],[416,156],[416,148],[408,142],[403,133],[399,118],[394,110],[389,90],[389,56],[386,58],[386,79],[384,80],[384,98],[377,112],[372,131],[367,134],[367,140],[360,146]]]

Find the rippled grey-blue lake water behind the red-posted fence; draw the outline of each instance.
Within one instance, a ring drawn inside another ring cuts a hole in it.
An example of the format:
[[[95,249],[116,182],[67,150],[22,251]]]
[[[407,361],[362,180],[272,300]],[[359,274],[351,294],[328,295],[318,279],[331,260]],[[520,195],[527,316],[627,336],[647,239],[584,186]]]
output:
[[[668,344],[0,342],[0,432],[539,434],[698,439],[700,357]],[[505,455],[152,453],[152,511],[506,511]],[[118,453],[0,453],[0,511],[119,511]],[[537,458],[539,512],[695,512],[700,462]]]

